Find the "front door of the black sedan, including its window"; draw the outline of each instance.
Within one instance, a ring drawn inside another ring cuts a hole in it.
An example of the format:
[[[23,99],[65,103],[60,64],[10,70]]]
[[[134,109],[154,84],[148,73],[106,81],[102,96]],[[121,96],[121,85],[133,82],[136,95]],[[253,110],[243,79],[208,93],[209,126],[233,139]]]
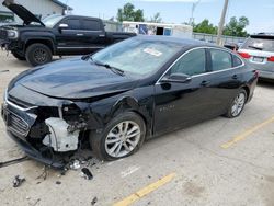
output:
[[[184,83],[161,82],[155,87],[155,133],[181,128],[206,119],[210,107],[210,76],[207,72],[206,50],[194,49],[183,55],[164,75],[184,73],[191,80]]]

